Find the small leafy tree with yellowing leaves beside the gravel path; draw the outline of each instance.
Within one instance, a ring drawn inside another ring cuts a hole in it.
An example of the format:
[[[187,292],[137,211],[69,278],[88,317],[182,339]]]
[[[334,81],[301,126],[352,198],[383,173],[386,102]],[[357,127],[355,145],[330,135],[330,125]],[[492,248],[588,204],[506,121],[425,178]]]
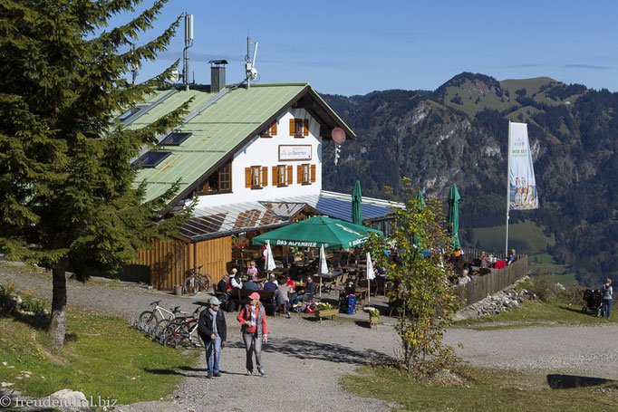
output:
[[[423,203],[408,178],[402,179],[401,194],[405,208],[392,214],[389,241],[397,254],[384,253],[388,245],[378,236],[372,236],[366,249],[377,264],[388,267],[389,298],[399,305],[401,314],[396,331],[401,338],[404,369],[430,375],[457,360],[453,348],[442,344],[444,331],[459,308],[440,252],[449,254],[451,239],[445,229],[442,202],[430,198]]]

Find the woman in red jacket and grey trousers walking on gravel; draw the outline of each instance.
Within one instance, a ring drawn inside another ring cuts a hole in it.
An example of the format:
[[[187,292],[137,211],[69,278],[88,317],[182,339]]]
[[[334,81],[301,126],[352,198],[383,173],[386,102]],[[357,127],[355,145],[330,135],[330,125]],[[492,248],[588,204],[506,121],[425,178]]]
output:
[[[246,375],[253,374],[253,354],[256,354],[257,371],[266,376],[262,363],[262,342],[268,341],[268,328],[266,326],[266,311],[260,304],[260,295],[253,292],[249,295],[250,303],[238,313],[237,320],[240,323],[245,340],[246,349]]]

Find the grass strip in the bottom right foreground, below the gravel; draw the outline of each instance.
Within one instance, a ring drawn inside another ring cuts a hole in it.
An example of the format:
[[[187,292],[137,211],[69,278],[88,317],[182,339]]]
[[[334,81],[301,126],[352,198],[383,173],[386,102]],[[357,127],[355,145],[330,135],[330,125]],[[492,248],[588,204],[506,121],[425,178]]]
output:
[[[469,367],[465,386],[441,387],[420,383],[383,367],[358,369],[359,375],[342,379],[343,388],[362,397],[396,402],[413,411],[574,411],[614,410],[615,382],[587,388],[553,389],[546,373]],[[595,389],[609,388],[604,393]]]

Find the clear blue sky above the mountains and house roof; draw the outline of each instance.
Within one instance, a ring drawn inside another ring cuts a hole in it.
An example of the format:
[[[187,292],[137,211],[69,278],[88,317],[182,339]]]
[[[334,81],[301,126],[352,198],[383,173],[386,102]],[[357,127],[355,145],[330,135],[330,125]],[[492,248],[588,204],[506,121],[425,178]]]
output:
[[[323,93],[434,90],[459,72],[618,91],[615,1],[171,0],[142,41],[185,11],[195,16],[189,55],[198,83],[209,83],[207,62],[220,58],[230,62],[227,82],[241,81],[249,34],[259,42],[259,81],[309,81]],[[183,36],[181,28],[139,79],[179,58]]]

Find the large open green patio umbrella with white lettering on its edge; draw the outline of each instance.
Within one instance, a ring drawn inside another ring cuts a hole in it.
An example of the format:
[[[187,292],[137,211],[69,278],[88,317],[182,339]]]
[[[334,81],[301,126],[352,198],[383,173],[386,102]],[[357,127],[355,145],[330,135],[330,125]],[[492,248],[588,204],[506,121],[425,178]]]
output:
[[[320,247],[327,249],[349,249],[364,244],[370,233],[383,235],[381,231],[354,225],[326,216],[315,216],[292,225],[279,227],[251,239],[253,244],[277,246]]]

